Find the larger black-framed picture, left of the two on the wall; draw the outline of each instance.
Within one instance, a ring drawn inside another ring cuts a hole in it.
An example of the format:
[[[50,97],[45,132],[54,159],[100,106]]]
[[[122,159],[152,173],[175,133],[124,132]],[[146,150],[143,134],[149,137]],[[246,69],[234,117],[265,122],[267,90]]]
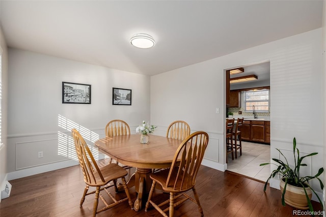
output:
[[[63,82],[62,103],[91,104],[91,85]]]

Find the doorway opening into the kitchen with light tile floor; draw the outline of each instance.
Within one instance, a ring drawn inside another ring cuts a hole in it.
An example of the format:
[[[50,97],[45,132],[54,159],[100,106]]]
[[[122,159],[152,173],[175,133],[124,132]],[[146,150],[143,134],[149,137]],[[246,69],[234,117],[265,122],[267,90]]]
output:
[[[240,72],[232,74],[233,68],[226,70],[226,118],[234,118],[235,122],[244,118],[241,127],[242,155],[239,150],[237,158],[234,156],[232,159],[231,153],[227,154],[227,170],[266,181],[270,166],[259,165],[270,161],[270,64],[264,62],[235,68]],[[253,79],[242,79],[247,77]],[[239,79],[243,81],[234,82]],[[239,143],[233,140],[233,144],[235,142]]]

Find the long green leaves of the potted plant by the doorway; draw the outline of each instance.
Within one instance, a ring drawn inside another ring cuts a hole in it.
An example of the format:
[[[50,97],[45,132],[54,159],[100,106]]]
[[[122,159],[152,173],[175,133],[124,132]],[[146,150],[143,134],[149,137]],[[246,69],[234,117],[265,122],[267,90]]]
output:
[[[306,188],[310,188],[311,191],[313,193],[315,193],[315,195],[317,196],[317,198],[319,200],[319,203],[321,204],[322,210],[323,210],[323,204],[322,204],[320,198],[318,197],[318,195],[316,194],[316,192],[314,191],[314,189],[309,184],[309,180],[316,178],[320,183],[320,188],[323,189],[324,185],[323,185],[322,181],[318,178],[318,176],[320,176],[322,174],[324,169],[319,168],[318,173],[316,175],[314,175],[314,176],[304,176],[304,177],[300,176],[300,167],[301,166],[303,166],[303,167],[307,166],[307,164],[302,163],[302,160],[305,157],[313,156],[313,155],[316,155],[318,153],[314,152],[314,153],[307,154],[305,156],[300,157],[300,151],[296,148],[296,141],[295,141],[295,138],[293,138],[294,169],[292,169],[292,168],[290,168],[290,166],[288,164],[288,161],[287,161],[286,157],[283,155],[283,153],[279,149],[277,149],[277,150],[285,158],[285,162],[280,160],[280,159],[273,158],[273,160],[275,162],[277,162],[278,165],[274,164],[274,163],[260,164],[260,166],[264,166],[264,165],[268,165],[268,164],[273,164],[273,165],[277,166],[277,169],[274,170],[273,172],[271,172],[269,178],[265,182],[264,191],[266,191],[266,187],[267,187],[267,183],[268,183],[269,179],[272,178],[272,177],[274,178],[277,174],[279,174],[282,177],[283,181],[285,182],[284,189],[283,189],[283,192],[282,192],[282,205],[283,206],[285,206],[284,195],[285,195],[285,191],[286,191],[286,186],[287,186],[287,184],[290,184],[290,185],[293,185],[293,186],[302,187],[304,189],[305,195],[306,195],[306,198],[307,198],[307,202],[308,202],[308,206],[309,206],[309,210],[313,211],[311,201],[310,201],[310,199],[308,197],[308,194],[307,194],[307,191],[306,191]]]

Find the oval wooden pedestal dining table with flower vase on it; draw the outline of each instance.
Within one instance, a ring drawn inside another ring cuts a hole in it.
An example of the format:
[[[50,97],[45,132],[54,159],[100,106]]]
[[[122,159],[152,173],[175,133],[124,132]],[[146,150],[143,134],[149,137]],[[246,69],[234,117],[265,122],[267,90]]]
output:
[[[145,194],[151,188],[152,180],[149,175],[152,169],[169,168],[181,140],[149,135],[149,143],[140,143],[140,134],[118,135],[97,140],[94,144],[99,151],[110,156],[119,163],[135,167],[135,173],[128,181],[128,187],[135,186],[138,193],[134,202],[134,210],[142,208]]]

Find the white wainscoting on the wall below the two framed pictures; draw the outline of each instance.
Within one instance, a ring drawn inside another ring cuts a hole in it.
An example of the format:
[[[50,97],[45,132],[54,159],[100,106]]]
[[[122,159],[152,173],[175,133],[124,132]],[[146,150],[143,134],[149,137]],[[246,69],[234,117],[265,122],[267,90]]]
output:
[[[105,155],[94,147],[94,142],[97,140],[96,138],[105,137],[104,129],[90,130],[90,132],[89,135],[92,137],[85,134],[83,135],[84,139],[94,157],[102,159]],[[10,144],[8,156],[14,156],[14,159],[8,159],[9,164],[12,165],[10,165],[7,180],[79,164],[71,132],[68,130],[42,134],[10,135],[8,144]],[[41,158],[38,157],[40,151],[43,152]]]

